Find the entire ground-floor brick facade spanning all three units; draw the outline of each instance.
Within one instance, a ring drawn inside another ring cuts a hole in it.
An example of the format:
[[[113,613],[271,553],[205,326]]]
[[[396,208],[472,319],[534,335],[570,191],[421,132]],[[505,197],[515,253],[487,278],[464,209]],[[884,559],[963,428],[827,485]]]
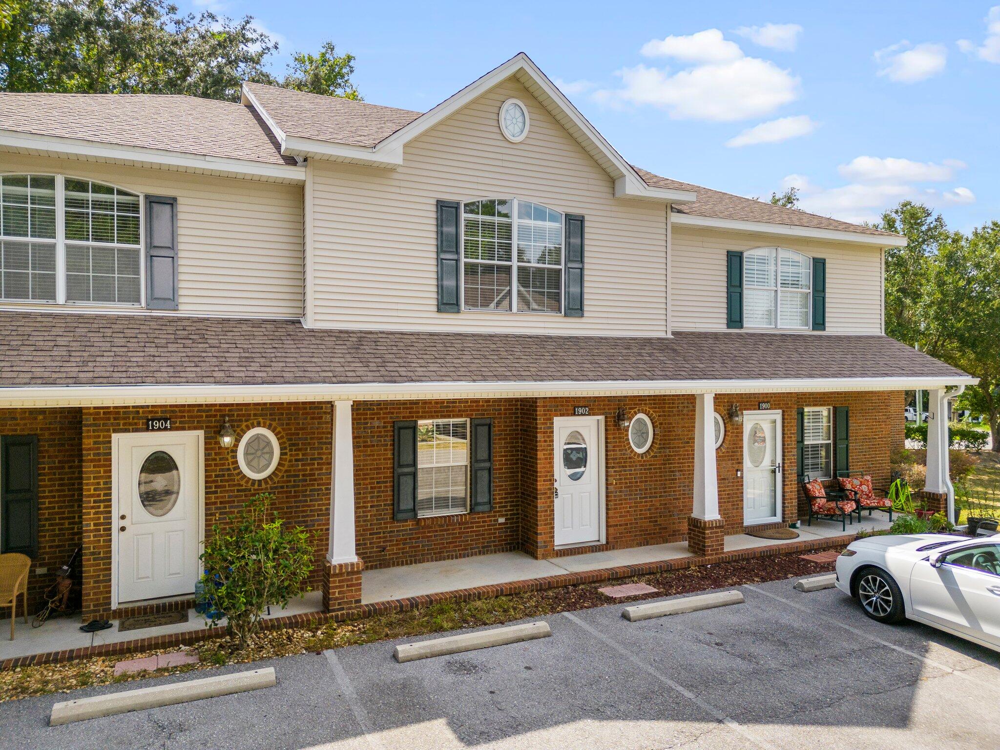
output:
[[[903,444],[902,419],[887,419],[903,408],[901,392],[719,395],[715,408],[727,415],[731,404],[741,411],[769,402],[783,417],[783,520],[805,510],[798,487],[795,457],[796,409],[847,406],[850,413],[850,464],[870,471],[877,484],[889,478],[889,454]],[[587,406],[605,420],[606,539],[556,549],[554,543],[553,420]],[[334,608],[360,601],[360,572],[470,555],[524,550],[537,558],[681,541],[692,535],[697,554],[721,551],[724,534],[743,525],[743,426],[726,419],[726,435],[716,452],[722,525],[694,524],[689,530],[694,464],[693,395],[496,398],[420,401],[356,401],[353,406],[355,568],[326,563],[329,529],[331,413],[329,403],[183,405],[84,409],[0,411],[0,433],[39,435],[40,554],[32,574],[32,607],[39,592],[82,541],[84,618],[109,616],[111,603],[111,436],[144,432],[150,415],[169,417],[178,431],[205,433],[206,526],[224,518],[250,496],[269,491],[290,523],[314,533],[316,569],[311,584],[320,586]],[[623,409],[631,418],[643,411],[651,418],[653,444],[636,454],[627,431],[617,424]],[[154,414],[155,412],[155,414]],[[282,447],[277,470],[254,482],[240,472],[236,448],[224,451],[216,440],[228,416],[237,440],[248,429],[266,426]],[[393,519],[393,423],[397,420],[489,417],[494,426],[494,506],[485,513]],[[718,529],[722,529],[719,531]],[[128,613],[175,606],[129,607]],[[176,605],[180,606],[180,605]],[[121,613],[124,614],[125,610]]]

